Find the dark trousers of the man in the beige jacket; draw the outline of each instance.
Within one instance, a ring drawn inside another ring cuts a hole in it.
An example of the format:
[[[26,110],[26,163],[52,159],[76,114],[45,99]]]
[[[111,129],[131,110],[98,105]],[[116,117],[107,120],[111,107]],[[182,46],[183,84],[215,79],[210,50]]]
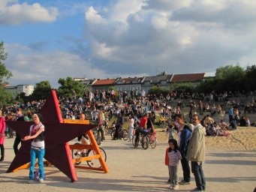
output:
[[[191,161],[191,170],[198,190],[206,190],[206,179],[203,174],[202,162]]]

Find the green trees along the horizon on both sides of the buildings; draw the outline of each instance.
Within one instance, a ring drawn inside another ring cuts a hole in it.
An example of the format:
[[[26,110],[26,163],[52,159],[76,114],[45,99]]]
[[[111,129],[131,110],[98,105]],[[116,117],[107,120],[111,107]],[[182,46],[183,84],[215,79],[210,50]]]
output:
[[[11,71],[5,66],[5,60],[8,58],[8,53],[5,52],[4,43],[0,43],[0,107],[14,104],[16,101],[21,103],[26,103],[27,101],[40,101],[47,98],[52,88],[50,82],[41,81],[36,83],[34,92],[32,95],[25,96],[25,93],[17,95],[14,98],[11,92],[4,89],[4,86],[8,84],[8,79],[12,77]],[[72,98],[74,94],[77,97],[83,97],[84,92],[88,90],[86,86],[82,83],[74,81],[72,77],[67,77],[66,79],[60,78],[58,80],[60,84],[57,91],[59,97]],[[113,87],[110,87],[113,89]],[[236,65],[226,65],[221,68],[217,68],[215,72],[215,77],[209,78],[201,82],[197,86],[193,86],[191,83],[174,83],[169,87],[161,88],[158,86],[152,86],[149,90],[150,95],[164,97],[175,91],[178,95],[181,93],[193,93],[193,92],[203,92],[204,94],[209,94],[212,91],[215,93],[224,92],[240,92],[247,94],[249,92],[255,92],[256,90],[256,65],[247,65],[245,68]]]

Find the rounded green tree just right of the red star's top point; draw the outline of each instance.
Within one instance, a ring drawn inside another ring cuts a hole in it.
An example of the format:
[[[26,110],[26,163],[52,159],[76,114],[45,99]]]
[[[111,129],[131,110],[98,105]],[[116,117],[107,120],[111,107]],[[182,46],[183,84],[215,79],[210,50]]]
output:
[[[58,83],[61,85],[58,90],[59,97],[83,97],[83,93],[86,90],[82,83],[73,80],[72,77],[67,77],[66,79],[60,78]]]

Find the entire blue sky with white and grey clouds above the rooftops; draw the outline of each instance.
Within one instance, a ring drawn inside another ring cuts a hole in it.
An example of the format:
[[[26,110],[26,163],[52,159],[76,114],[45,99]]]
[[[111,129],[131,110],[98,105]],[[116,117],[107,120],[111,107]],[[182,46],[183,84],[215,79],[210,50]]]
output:
[[[1,0],[11,86],[255,65],[254,0]]]

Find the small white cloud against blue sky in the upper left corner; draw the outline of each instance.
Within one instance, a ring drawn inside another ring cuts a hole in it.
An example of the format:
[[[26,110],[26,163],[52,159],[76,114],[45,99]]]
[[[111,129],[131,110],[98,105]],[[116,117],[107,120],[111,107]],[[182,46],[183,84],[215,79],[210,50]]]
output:
[[[2,1],[0,6],[0,23],[20,25],[27,22],[53,22],[58,16],[56,7],[42,7],[35,3],[32,5],[19,4],[17,1]]]

